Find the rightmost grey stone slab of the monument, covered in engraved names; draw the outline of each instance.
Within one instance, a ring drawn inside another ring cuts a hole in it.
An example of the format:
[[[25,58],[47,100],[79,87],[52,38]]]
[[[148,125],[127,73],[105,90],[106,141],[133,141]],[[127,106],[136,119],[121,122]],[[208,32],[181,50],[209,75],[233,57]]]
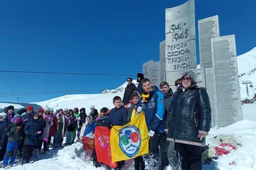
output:
[[[211,39],[217,126],[243,120],[234,35]]]

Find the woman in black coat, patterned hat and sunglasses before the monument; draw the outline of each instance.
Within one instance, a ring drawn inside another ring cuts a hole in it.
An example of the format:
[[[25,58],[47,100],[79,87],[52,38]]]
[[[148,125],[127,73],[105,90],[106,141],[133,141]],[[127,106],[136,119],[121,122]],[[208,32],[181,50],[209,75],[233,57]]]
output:
[[[211,105],[207,91],[196,85],[196,74],[182,73],[182,86],[172,98],[169,113],[168,141],[175,142],[182,170],[202,169],[201,147],[211,127]]]

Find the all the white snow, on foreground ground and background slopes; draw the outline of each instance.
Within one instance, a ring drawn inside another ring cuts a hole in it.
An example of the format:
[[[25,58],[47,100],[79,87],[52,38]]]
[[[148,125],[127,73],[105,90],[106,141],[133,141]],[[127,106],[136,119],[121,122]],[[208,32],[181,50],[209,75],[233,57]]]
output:
[[[245,85],[243,81],[252,81],[253,87],[249,88],[250,97],[253,96],[256,88],[256,48],[253,48],[250,52],[244,53],[237,57],[239,68],[239,81],[241,87],[241,98],[246,98]],[[198,66],[199,67],[199,66]],[[254,70],[255,69],[255,70]],[[241,76],[243,74],[243,76]],[[136,80],[134,80],[136,83]],[[254,87],[255,85],[255,87]],[[123,97],[126,83],[113,90],[105,90],[104,94],[76,94],[57,97],[49,101],[36,102],[43,107],[49,106],[54,110],[59,108],[86,108],[88,113],[90,106],[94,105],[95,108],[100,110],[102,107],[113,108],[113,97]],[[211,129],[209,136],[207,136],[207,144],[214,145],[214,139],[221,134],[232,135],[236,139],[237,143],[242,146],[237,147],[237,150],[233,150],[228,155],[220,156],[218,160],[213,160],[210,165],[204,166],[205,170],[216,169],[256,169],[256,104],[244,104],[243,109],[243,121],[232,124],[228,127],[221,129]],[[230,165],[234,162],[234,165]],[[34,162],[33,164],[27,164],[24,166],[15,166],[11,169],[17,170],[34,170],[34,169],[72,169],[72,170],[90,170],[96,169],[92,166],[92,162],[83,161],[83,146],[80,143],[76,143],[72,146],[67,146],[63,150],[59,150],[58,153],[50,153],[44,155],[41,160]],[[97,168],[103,169],[103,168]],[[134,169],[130,167],[129,170]],[[171,170],[168,167],[168,170]]]

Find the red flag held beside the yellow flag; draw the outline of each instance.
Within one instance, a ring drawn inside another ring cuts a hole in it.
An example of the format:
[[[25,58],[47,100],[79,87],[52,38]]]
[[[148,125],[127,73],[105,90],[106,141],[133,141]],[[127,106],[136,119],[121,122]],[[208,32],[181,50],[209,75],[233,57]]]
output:
[[[110,152],[110,130],[108,127],[97,126],[95,128],[95,151],[97,154],[97,161],[102,162],[109,167],[117,167],[116,162],[112,162]]]

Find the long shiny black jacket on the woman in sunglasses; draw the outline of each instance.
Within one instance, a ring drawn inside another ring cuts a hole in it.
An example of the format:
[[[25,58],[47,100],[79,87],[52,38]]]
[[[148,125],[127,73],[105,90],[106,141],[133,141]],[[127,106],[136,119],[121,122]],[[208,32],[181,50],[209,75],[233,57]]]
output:
[[[211,105],[204,87],[193,84],[184,92],[180,87],[173,95],[170,112],[168,141],[205,146],[205,140],[198,138],[198,133],[207,135],[211,127]]]

